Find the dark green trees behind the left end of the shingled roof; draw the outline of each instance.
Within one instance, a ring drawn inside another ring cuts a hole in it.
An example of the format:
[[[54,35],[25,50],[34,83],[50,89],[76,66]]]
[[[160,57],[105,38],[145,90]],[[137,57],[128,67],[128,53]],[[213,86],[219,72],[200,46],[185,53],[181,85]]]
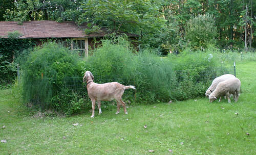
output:
[[[17,0],[13,9],[6,9],[6,20],[72,20],[75,17],[66,18],[77,10],[81,0]]]

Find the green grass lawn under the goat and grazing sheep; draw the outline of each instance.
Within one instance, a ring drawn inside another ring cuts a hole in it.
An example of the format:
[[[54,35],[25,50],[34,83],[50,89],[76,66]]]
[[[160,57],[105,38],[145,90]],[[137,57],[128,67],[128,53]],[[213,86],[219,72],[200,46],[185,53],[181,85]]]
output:
[[[0,90],[0,154],[256,154],[256,62],[238,63],[237,77],[236,103],[196,98],[129,106],[128,115],[102,109],[93,119],[89,111],[35,118]]]

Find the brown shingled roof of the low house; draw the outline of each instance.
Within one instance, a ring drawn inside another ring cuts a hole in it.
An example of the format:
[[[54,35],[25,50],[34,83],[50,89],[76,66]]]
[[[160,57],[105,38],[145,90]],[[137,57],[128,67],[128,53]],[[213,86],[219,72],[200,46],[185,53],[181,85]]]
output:
[[[99,32],[86,34],[87,23],[80,26],[73,21],[56,22],[51,20],[24,21],[22,25],[17,21],[0,21],[0,38],[8,38],[8,33],[18,31],[19,38],[79,38],[79,37],[103,37],[108,33],[106,29]],[[135,34],[126,33],[129,37],[138,37]]]

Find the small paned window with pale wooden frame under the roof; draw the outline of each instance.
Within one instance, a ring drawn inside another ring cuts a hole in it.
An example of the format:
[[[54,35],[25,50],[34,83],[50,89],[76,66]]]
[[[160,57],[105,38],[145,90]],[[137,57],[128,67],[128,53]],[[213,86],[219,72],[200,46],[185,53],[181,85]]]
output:
[[[73,39],[71,49],[77,51],[80,57],[88,57],[88,38]]]

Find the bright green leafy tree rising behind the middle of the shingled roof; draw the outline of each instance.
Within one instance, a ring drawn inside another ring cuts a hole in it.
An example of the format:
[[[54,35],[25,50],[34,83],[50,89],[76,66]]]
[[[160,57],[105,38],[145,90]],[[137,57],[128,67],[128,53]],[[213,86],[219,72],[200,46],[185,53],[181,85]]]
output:
[[[141,45],[152,46],[149,38],[166,26],[159,10],[159,3],[148,0],[90,0],[82,3],[78,23],[92,22],[110,30],[139,34]]]

